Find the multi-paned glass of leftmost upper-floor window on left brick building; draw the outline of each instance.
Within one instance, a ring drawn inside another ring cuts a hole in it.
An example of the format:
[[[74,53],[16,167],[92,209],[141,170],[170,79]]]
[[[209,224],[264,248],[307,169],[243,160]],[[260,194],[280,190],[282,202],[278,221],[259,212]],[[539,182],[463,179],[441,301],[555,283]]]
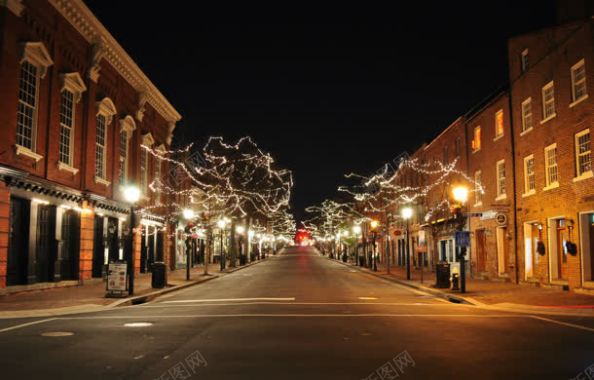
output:
[[[37,67],[23,62],[17,111],[17,144],[30,150],[35,150],[38,84]]]

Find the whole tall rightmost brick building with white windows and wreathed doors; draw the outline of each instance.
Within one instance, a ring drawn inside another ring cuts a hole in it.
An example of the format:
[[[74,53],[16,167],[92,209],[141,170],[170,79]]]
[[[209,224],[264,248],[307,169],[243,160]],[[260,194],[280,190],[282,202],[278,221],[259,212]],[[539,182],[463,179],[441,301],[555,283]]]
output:
[[[594,287],[593,32],[589,18],[508,44],[522,281]]]

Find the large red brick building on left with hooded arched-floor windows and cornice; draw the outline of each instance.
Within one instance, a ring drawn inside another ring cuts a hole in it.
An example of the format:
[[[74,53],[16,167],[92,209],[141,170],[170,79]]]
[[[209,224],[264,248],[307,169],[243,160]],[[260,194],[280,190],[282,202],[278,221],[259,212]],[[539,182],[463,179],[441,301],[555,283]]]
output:
[[[80,0],[0,3],[0,287],[101,277],[124,255],[130,205],[177,111]],[[137,272],[168,255],[164,210],[143,212]]]

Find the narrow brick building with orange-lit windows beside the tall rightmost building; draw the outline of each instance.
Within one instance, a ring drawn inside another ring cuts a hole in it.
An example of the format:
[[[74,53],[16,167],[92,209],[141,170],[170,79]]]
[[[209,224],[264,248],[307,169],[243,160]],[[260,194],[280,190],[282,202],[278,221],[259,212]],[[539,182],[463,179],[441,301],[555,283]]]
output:
[[[502,92],[466,115],[471,273],[515,281],[515,197],[509,96]]]

